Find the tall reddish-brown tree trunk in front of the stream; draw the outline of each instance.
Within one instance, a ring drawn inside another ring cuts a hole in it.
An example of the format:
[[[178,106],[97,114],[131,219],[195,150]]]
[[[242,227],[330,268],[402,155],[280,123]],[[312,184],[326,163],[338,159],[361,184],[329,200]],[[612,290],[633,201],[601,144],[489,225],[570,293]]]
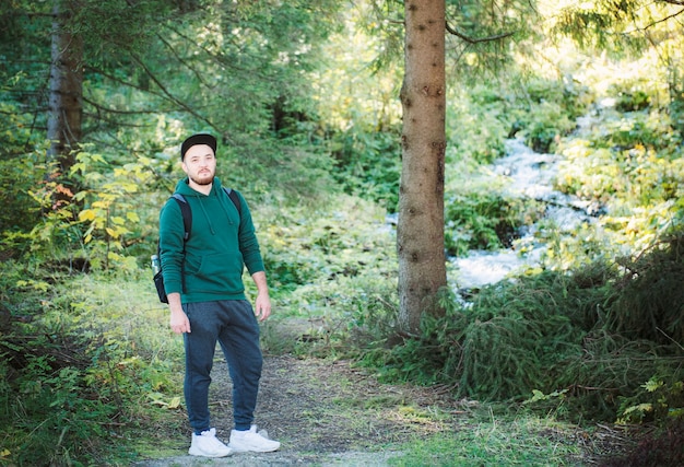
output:
[[[402,171],[399,188],[400,327],[420,330],[423,313],[441,313],[444,252],[445,0],[405,0]]]

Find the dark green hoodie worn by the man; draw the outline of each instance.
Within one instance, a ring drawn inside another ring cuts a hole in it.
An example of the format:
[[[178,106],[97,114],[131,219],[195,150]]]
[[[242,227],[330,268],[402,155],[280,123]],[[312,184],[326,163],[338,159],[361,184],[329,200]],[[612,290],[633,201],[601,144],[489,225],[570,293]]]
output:
[[[187,178],[176,192],[190,206],[192,226],[184,254],[180,207],[172,199],[164,205],[160,249],[166,293],[179,292],[182,303],[244,300],[244,267],[250,275],[264,270],[247,202],[238,192],[240,215],[219,178],[209,196],[190,188]]]

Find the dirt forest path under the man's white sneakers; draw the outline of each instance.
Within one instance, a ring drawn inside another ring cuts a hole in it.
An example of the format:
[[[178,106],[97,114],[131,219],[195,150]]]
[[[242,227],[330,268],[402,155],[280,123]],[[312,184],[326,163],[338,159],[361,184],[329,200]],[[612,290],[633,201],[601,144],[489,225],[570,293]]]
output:
[[[217,354],[219,355],[219,354]],[[232,385],[223,357],[212,373],[211,410],[217,434],[232,427]],[[294,357],[266,357],[257,423],[281,441],[276,453],[239,453],[211,459],[216,466],[358,465],[385,466],[398,455],[381,446],[437,430],[456,429],[450,422],[408,422],[402,407],[434,407],[459,411],[446,390],[380,385],[349,362]],[[224,441],[227,441],[224,439]],[[178,456],[150,459],[140,467],[200,466],[208,459],[188,456],[189,437],[181,440]]]

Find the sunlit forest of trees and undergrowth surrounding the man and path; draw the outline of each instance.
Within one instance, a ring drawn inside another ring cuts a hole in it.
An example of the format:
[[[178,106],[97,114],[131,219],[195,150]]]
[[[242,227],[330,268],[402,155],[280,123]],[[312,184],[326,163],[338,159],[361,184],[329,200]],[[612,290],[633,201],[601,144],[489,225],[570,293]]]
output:
[[[683,21],[681,0],[3,1],[0,465],[187,450],[150,257],[196,132],[251,210],[266,359],[349,365],[380,395],[338,408],[450,427],[350,451],[683,465]],[[606,427],[620,443],[587,442]]]

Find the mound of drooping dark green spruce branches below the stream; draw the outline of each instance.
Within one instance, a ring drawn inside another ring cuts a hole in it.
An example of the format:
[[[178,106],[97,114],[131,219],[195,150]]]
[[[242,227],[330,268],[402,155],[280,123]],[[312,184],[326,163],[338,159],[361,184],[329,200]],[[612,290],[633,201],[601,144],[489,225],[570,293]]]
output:
[[[500,282],[470,304],[447,293],[446,314],[426,315],[421,336],[370,346],[362,363],[385,381],[527,401],[576,421],[680,417],[683,241],[673,234],[636,259]],[[649,395],[654,375],[660,390]]]

